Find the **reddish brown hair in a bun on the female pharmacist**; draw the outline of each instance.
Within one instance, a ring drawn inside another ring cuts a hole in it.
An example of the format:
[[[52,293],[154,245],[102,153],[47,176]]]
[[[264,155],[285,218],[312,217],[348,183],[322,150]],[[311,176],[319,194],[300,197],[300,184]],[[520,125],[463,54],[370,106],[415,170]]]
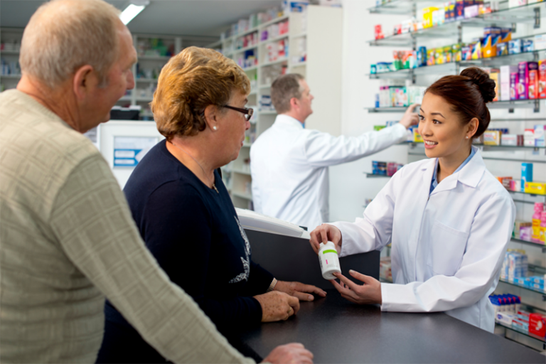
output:
[[[459,76],[441,77],[427,88],[427,92],[446,100],[464,124],[476,117],[479,125],[474,138],[487,130],[491,115],[486,103],[495,97],[495,81],[484,70],[471,67],[463,70]]]

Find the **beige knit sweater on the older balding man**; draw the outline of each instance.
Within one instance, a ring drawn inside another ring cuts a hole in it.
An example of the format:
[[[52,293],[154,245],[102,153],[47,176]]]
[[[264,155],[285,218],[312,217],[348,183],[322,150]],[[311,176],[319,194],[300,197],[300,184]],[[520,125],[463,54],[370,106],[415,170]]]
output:
[[[2,92],[0,363],[95,363],[105,296],[175,363],[254,363],[169,282],[95,146]]]

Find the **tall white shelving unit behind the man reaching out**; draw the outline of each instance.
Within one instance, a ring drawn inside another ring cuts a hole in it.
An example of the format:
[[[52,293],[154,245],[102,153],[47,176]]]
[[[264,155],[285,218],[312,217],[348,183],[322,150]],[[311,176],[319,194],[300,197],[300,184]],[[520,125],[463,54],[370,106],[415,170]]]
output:
[[[255,56],[257,56],[255,65],[243,68],[251,80],[252,88],[247,107],[254,108],[255,115],[251,119],[247,139],[238,158],[223,167],[224,182],[226,186],[228,183],[231,186],[230,193],[235,207],[252,208],[252,195],[248,191],[248,187],[252,183],[250,168],[248,168],[250,146],[260,134],[272,126],[275,117],[277,117],[277,112],[274,110],[269,107],[262,108],[260,100],[262,96],[271,95],[271,84],[278,75],[282,73],[304,75],[315,97],[332,100],[328,105],[313,105],[314,114],[306,120],[306,127],[339,134],[341,128],[332,120],[339,119],[341,97],[332,97],[332,95],[341,95],[342,18],[342,9],[328,6],[308,6],[304,13],[286,14],[208,45],[209,48],[221,50],[225,56],[232,58],[235,62],[239,60],[242,53],[248,50],[254,50]],[[268,26],[283,21],[289,23],[288,33],[261,40],[262,31]],[[327,27],[324,26],[325,23],[328,23]],[[235,45],[243,43],[238,41],[240,38],[252,33],[257,33],[257,39],[260,39],[257,43],[235,49]],[[285,57],[265,62],[267,60],[267,45],[282,40],[288,42],[286,47],[288,54]],[[325,48],[328,48],[328,52],[324,51]],[[243,65],[243,63],[241,62],[239,65]],[[328,73],[324,72],[326,69]]]

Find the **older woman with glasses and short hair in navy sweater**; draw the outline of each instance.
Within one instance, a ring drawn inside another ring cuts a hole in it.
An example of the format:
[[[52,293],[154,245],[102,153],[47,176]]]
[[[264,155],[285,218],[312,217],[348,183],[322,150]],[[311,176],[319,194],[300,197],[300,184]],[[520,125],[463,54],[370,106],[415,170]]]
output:
[[[287,319],[298,311],[298,299],[326,295],[314,286],[277,282],[250,257],[218,172],[237,158],[250,127],[249,92],[247,75],[214,50],[190,47],[173,57],[151,104],[166,139],[146,154],[124,189],[160,266],[236,347],[238,329]],[[105,314],[97,363],[164,363],[109,302]]]

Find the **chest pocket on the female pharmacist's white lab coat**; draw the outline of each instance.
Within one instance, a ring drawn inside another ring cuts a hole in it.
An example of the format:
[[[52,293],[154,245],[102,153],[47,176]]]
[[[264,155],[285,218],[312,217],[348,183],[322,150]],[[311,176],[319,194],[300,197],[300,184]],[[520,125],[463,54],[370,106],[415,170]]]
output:
[[[434,274],[453,276],[463,259],[468,232],[434,221],[427,264]]]

